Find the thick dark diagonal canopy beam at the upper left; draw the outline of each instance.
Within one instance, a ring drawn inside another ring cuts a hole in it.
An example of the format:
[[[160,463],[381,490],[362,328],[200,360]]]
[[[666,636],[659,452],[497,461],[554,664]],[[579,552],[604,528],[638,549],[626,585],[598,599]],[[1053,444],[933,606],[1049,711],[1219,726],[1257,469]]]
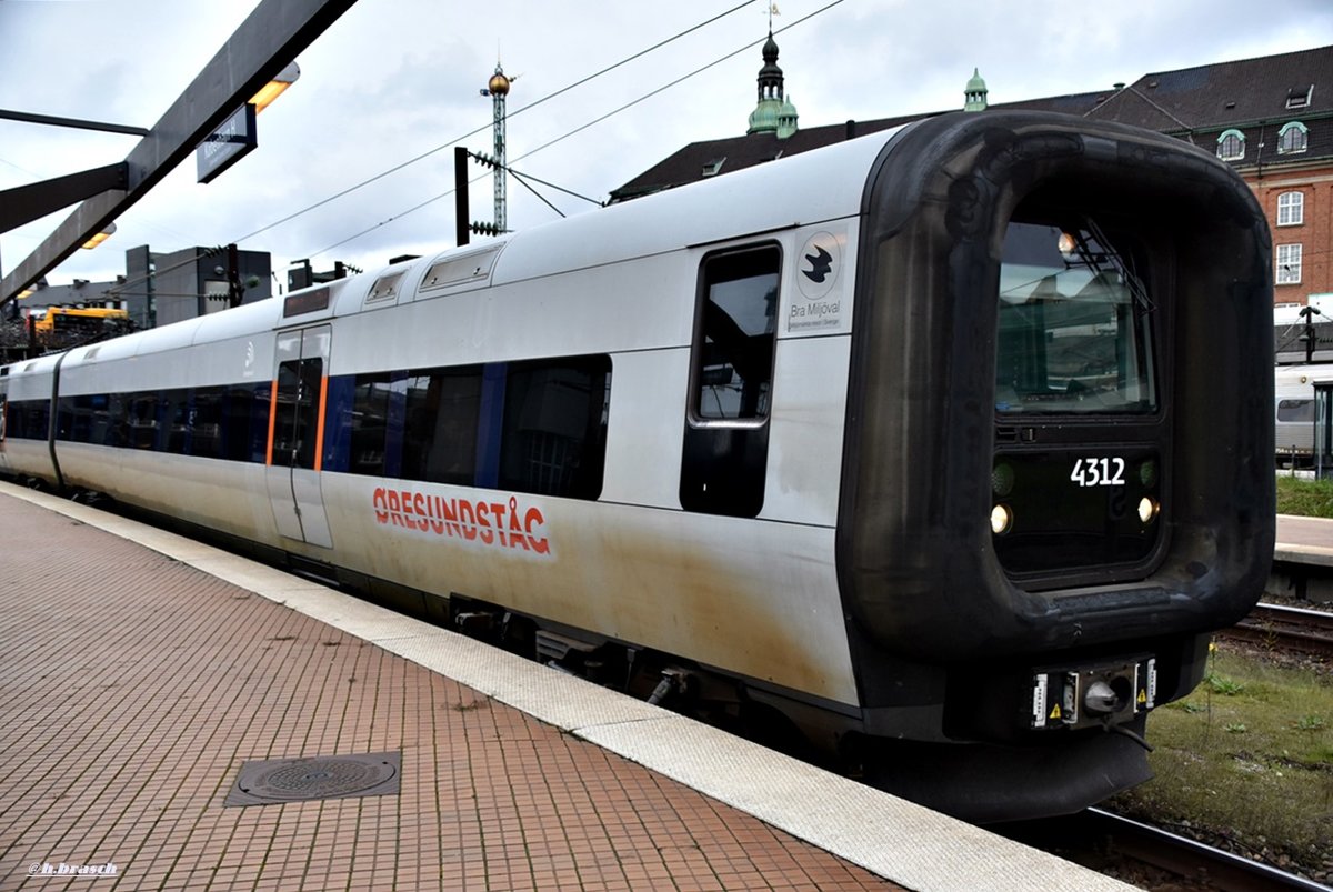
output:
[[[85,200],[0,280],[0,307],[144,197],[356,0],[264,0],[125,157],[127,184]]]

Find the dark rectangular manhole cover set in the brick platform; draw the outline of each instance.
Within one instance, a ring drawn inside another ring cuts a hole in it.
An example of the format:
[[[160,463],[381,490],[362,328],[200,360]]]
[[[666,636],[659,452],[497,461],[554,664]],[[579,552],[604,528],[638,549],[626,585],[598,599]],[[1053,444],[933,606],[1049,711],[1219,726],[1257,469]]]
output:
[[[225,805],[269,805],[399,792],[403,753],[264,759],[241,765]]]

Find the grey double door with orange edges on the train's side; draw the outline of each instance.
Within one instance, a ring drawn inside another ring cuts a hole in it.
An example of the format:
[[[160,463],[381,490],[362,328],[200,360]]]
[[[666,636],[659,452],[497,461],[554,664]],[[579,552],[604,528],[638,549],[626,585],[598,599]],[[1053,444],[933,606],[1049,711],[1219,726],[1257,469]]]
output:
[[[279,333],[265,469],[277,531],[323,548],[333,547],[320,491],[331,345],[328,325]]]

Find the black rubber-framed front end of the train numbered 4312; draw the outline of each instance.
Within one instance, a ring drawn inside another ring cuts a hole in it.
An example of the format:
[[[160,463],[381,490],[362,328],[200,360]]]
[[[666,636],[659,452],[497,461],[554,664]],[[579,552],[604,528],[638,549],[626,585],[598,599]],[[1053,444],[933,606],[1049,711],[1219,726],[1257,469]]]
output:
[[[1148,712],[1262,591],[1264,216],[1178,140],[993,112],[900,133],[864,211],[837,559],[872,780],[1074,811],[1149,776]]]

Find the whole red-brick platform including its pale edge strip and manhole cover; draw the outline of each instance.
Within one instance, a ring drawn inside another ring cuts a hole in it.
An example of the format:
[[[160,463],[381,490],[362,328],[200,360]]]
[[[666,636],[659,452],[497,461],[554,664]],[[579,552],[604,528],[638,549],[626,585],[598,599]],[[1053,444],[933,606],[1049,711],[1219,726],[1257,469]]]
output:
[[[1126,889],[0,484],[0,889]]]

